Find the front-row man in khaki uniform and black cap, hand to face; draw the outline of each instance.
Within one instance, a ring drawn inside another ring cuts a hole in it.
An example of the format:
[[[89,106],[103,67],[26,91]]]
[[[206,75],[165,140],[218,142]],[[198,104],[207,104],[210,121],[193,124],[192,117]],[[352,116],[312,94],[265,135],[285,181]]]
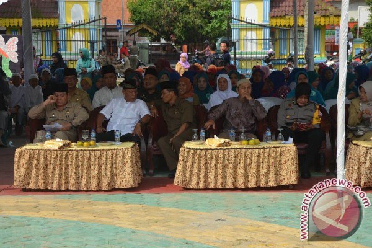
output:
[[[86,121],[89,115],[79,103],[68,102],[67,93],[67,84],[56,84],[54,94],[30,109],[28,116],[32,119],[45,119],[46,125],[61,124],[61,130],[52,133],[52,138],[74,142],[77,140],[76,127]],[[45,133],[44,131],[44,136]],[[34,142],[36,140],[35,137]]]

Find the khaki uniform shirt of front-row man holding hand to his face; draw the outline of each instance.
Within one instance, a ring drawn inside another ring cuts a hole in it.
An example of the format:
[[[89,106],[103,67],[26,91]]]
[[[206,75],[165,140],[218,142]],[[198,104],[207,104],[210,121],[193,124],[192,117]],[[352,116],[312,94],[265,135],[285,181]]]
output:
[[[74,127],[77,127],[89,118],[86,110],[78,103],[67,103],[64,109],[59,111],[55,104],[39,104],[30,109],[28,116],[32,119],[45,119],[46,125],[61,125],[71,122]]]

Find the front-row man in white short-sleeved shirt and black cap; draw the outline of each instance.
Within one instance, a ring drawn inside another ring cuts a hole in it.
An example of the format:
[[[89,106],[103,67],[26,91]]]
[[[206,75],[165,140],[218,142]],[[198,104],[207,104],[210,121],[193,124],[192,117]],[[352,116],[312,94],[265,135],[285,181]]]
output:
[[[141,125],[150,121],[146,103],[137,99],[137,84],[134,79],[124,80],[120,86],[124,97],[112,99],[97,116],[97,142],[115,141],[115,130],[121,131],[121,142],[136,142],[141,147]],[[109,120],[107,132],[103,120]]]

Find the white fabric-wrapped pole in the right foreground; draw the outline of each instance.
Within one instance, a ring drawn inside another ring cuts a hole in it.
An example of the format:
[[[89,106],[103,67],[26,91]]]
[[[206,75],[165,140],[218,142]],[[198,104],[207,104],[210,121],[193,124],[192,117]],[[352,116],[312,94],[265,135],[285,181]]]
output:
[[[345,86],[347,72],[347,20],[349,1],[342,0],[340,23],[340,61],[339,91],[337,93],[337,178],[344,178],[345,173]]]

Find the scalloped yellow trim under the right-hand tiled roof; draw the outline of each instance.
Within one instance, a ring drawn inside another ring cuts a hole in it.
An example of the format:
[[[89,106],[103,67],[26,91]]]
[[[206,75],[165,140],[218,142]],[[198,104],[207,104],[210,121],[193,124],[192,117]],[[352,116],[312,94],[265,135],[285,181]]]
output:
[[[340,25],[340,16],[314,16],[314,25],[316,26],[325,26],[328,24],[331,25]],[[293,16],[283,16],[283,17],[270,17],[270,25],[274,27],[292,27],[294,23]],[[305,19],[302,16],[297,18],[298,26],[305,25]]]

